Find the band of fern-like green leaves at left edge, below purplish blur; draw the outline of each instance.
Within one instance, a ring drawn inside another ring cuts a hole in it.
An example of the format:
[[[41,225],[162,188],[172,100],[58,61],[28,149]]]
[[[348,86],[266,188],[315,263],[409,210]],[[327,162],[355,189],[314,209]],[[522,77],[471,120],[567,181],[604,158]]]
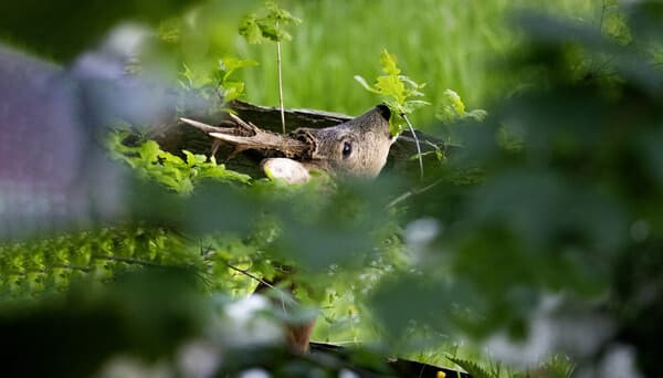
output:
[[[112,280],[136,267],[194,265],[191,258],[177,234],[145,227],[3,243],[0,293],[3,303],[21,301],[67,290],[85,279]]]

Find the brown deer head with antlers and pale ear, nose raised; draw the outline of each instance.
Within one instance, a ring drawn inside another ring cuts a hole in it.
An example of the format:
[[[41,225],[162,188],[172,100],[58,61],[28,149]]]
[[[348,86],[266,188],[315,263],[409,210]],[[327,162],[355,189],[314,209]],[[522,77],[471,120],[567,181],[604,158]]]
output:
[[[288,135],[271,133],[231,115],[236,127],[214,127],[181,118],[210,136],[234,145],[236,154],[246,149],[271,156],[262,161],[265,174],[286,182],[305,182],[309,170],[334,176],[378,176],[396,138],[389,133],[391,112],[378,105],[346,123],[326,128],[298,128]]]

